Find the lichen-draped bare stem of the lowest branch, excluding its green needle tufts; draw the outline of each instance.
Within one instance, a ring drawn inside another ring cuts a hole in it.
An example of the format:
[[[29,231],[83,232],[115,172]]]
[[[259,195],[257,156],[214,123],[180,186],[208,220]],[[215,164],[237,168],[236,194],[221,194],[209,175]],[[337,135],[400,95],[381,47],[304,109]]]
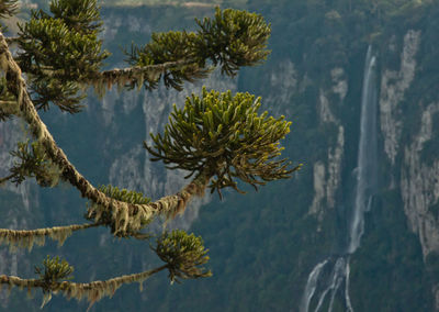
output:
[[[20,287],[21,289],[26,288],[29,292],[32,289],[41,288],[44,292],[44,299],[42,307],[47,303],[52,298],[53,293],[63,293],[63,296],[68,299],[75,298],[80,301],[86,298],[90,302],[89,309],[94,302],[101,300],[103,297],[112,297],[114,292],[124,283],[139,282],[140,290],[143,289],[143,282],[148,279],[154,274],[157,274],[166,268],[168,264],[151,269],[143,271],[139,274],[124,275],[121,277],[115,277],[108,280],[97,280],[92,282],[70,282],[70,281],[46,281],[44,279],[22,279],[15,276],[0,276],[0,287],[1,285],[8,285],[11,289],[12,287]]]

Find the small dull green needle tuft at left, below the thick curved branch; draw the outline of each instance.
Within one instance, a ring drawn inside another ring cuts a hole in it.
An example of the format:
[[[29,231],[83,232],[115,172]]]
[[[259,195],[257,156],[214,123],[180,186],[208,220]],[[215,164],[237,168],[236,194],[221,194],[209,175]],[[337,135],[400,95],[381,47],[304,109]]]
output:
[[[8,179],[16,186],[23,182],[26,177],[35,177],[42,187],[54,187],[58,183],[61,172],[47,157],[40,142],[35,141],[31,144],[29,141],[19,142],[18,149],[12,151],[11,155],[19,158],[19,160],[14,161]]]

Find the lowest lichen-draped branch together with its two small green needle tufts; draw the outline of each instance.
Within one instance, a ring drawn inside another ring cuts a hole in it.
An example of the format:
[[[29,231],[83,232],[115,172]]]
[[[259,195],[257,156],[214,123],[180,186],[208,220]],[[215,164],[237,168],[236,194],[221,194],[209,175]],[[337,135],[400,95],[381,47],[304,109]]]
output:
[[[0,289],[2,285],[8,285],[9,289],[19,287],[27,289],[41,288],[43,290],[42,308],[52,299],[52,294],[61,293],[67,299],[78,301],[87,299],[90,303],[89,309],[104,297],[112,297],[114,292],[125,283],[138,282],[139,290],[143,290],[143,282],[151,275],[164,269],[169,270],[170,281],[181,279],[196,279],[212,276],[210,270],[201,267],[209,261],[209,256],[203,246],[201,237],[189,235],[184,231],[173,231],[164,233],[157,238],[157,246],[153,248],[166,264],[144,272],[124,275],[109,280],[98,280],[92,282],[71,282],[74,267],[65,259],[59,257],[50,258],[47,256],[43,260],[42,267],[35,267],[37,279],[21,279],[14,276],[0,276]]]

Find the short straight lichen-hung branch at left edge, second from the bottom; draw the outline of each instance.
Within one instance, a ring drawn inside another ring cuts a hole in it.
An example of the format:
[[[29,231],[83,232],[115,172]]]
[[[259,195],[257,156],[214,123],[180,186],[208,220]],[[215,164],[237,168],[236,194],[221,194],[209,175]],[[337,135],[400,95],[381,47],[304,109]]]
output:
[[[36,230],[8,230],[0,229],[0,244],[5,242],[11,249],[16,247],[32,249],[33,245],[43,246],[45,237],[58,241],[59,246],[72,234],[72,232],[100,226],[99,223],[72,224]]]

